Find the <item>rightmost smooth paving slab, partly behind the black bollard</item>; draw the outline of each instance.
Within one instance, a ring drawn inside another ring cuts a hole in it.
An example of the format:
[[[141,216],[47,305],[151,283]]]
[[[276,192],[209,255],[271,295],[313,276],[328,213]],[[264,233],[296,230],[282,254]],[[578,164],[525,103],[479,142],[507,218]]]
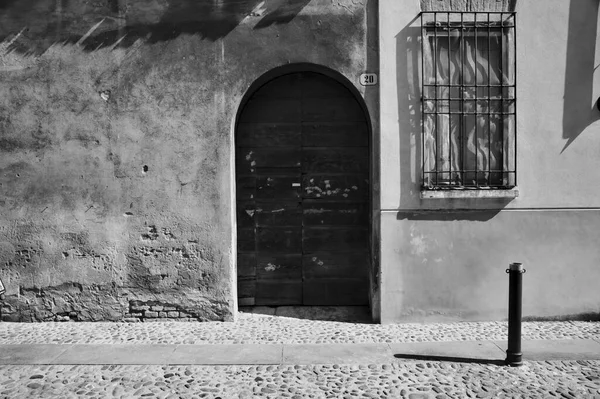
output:
[[[506,341],[495,341],[506,351]],[[523,360],[598,360],[600,343],[593,339],[527,340],[521,344]]]

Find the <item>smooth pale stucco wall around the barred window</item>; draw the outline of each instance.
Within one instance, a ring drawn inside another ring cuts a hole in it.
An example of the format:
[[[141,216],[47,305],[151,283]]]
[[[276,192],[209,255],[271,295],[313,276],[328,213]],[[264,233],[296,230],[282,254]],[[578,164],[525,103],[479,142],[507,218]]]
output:
[[[513,3],[422,5],[487,11]],[[519,196],[434,200],[419,195],[419,5],[380,4],[383,322],[502,319],[509,262],[528,270],[525,316],[600,311],[590,284],[600,277],[598,2],[520,1],[516,11]]]

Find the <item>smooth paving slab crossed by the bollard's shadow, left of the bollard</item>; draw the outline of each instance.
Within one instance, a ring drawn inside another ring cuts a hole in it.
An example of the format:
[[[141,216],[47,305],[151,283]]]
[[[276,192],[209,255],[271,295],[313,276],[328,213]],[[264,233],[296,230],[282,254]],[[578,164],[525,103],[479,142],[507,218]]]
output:
[[[474,360],[504,360],[506,353],[489,341],[391,343],[392,354],[398,358],[411,356],[462,358]]]

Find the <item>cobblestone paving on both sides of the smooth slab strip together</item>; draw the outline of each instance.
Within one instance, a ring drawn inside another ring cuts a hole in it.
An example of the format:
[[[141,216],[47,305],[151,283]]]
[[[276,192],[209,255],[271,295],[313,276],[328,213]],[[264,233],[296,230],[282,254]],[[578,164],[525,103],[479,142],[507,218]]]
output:
[[[597,322],[526,322],[523,339],[598,339]],[[236,323],[0,323],[0,344],[300,344],[490,341],[506,323],[373,325],[240,314]],[[600,360],[161,366],[4,365],[1,398],[594,398]]]

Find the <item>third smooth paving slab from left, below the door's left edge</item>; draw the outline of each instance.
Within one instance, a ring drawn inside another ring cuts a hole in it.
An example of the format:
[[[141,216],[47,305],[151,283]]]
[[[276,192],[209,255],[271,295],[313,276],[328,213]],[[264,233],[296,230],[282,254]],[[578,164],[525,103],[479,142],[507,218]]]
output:
[[[281,364],[283,345],[177,345],[168,364]]]

